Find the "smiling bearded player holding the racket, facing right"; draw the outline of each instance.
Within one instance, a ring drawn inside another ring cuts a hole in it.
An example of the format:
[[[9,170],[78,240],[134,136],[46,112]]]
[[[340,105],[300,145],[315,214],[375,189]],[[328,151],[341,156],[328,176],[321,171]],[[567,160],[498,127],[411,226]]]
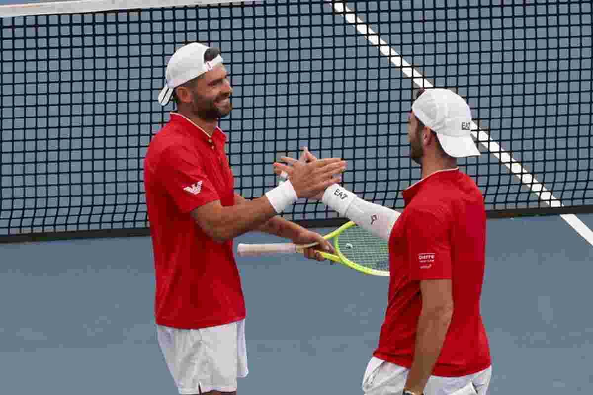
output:
[[[290,182],[248,201],[234,192],[219,118],[232,88],[218,49],[188,44],[173,54],[161,105],[178,110],[152,139],[145,189],[156,277],[155,321],[165,362],[181,394],[234,394],[247,375],[245,302],[233,238],[262,230],[295,243],[331,245],[277,216],[299,197],[339,181],[339,158],[302,163]],[[315,258],[308,251],[309,258]]]

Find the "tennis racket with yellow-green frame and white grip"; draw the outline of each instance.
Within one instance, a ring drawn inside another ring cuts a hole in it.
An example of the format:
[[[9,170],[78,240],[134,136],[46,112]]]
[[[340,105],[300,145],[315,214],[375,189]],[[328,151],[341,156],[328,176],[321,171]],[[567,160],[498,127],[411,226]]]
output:
[[[335,253],[320,251],[321,256],[346,265],[365,274],[389,277],[388,243],[363,227],[348,221],[333,232],[323,236],[333,239]],[[276,253],[303,253],[317,243],[295,245],[293,243],[240,244],[239,256],[260,256]]]

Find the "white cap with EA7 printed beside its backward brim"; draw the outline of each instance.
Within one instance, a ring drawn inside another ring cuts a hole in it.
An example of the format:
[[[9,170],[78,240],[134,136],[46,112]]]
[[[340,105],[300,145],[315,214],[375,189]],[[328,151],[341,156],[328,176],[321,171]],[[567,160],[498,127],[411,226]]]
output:
[[[480,155],[471,138],[471,109],[449,89],[426,89],[412,104],[416,118],[435,131],[441,146],[455,158]]]

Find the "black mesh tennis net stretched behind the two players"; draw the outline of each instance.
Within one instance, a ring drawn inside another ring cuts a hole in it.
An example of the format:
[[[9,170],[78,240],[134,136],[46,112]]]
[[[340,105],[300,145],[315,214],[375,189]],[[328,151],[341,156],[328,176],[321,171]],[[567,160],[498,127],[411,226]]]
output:
[[[143,159],[173,110],[156,98],[190,41],[231,73],[221,127],[246,198],[308,146],[348,160],[346,188],[402,208],[420,178],[407,113],[432,84],[473,108],[482,156],[460,165],[490,217],[593,212],[590,1],[217,3],[0,7],[0,241],[147,233]],[[315,202],[284,216],[340,221]]]

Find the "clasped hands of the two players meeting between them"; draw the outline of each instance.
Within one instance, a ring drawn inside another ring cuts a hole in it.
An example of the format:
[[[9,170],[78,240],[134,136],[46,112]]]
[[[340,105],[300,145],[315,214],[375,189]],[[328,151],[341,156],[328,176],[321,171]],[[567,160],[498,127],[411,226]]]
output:
[[[342,181],[346,161],[340,158],[317,159],[307,147],[299,160],[282,156],[282,162],[273,164],[275,174],[290,179],[298,198],[321,200],[323,192],[332,184]]]

